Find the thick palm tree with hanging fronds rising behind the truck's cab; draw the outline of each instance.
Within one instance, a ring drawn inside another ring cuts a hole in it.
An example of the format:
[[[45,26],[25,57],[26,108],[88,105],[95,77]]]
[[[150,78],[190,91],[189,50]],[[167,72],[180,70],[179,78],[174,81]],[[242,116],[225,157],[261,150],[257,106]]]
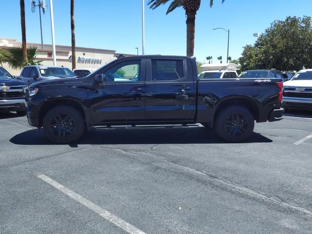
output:
[[[170,0],[149,0],[147,3],[151,9],[167,3]],[[210,7],[213,6],[214,0],[210,0]],[[222,3],[224,0],[222,0]],[[195,39],[195,15],[200,7],[201,0],[172,0],[168,7],[166,15],[175,10],[177,7],[183,7],[186,15],[186,55],[194,56],[194,39]]]

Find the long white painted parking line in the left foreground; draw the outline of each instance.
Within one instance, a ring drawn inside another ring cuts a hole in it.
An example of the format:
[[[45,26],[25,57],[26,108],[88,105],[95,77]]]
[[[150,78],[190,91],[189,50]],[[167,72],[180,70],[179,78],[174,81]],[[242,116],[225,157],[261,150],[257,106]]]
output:
[[[126,221],[118,218],[116,215],[102,209],[98,205],[94,204],[93,202],[89,201],[88,199],[78,195],[74,191],[66,188],[65,186],[61,185],[57,181],[51,179],[48,176],[43,174],[36,175],[38,178],[44,180],[48,184],[52,185],[53,187],[57,188],[62,193],[68,195],[69,197],[73,198],[75,201],[78,201],[80,204],[84,205],[88,209],[92,210],[93,212],[97,213],[98,215],[102,216],[103,218],[107,219],[108,221],[114,223],[117,227],[123,229],[127,233],[130,234],[145,234],[141,230],[137,229],[136,227],[132,226],[131,224],[127,223]]]

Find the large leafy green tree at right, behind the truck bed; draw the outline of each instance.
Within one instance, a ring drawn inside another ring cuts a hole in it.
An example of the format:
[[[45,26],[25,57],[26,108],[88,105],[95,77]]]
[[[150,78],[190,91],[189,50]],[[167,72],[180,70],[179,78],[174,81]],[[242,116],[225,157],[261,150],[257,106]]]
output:
[[[311,17],[275,20],[255,41],[244,46],[238,59],[242,70],[298,71],[312,68]]]

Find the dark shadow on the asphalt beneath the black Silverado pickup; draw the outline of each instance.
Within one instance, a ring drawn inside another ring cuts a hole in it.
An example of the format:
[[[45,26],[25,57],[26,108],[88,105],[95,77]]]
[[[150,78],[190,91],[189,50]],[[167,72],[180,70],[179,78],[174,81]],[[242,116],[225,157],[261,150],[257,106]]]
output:
[[[43,136],[43,131],[29,130],[10,139],[19,145],[53,145]],[[271,139],[253,133],[247,141],[242,143],[272,142]],[[225,144],[211,129],[195,128],[143,128],[143,129],[93,129],[87,132],[77,142],[70,144],[78,147],[83,144]]]

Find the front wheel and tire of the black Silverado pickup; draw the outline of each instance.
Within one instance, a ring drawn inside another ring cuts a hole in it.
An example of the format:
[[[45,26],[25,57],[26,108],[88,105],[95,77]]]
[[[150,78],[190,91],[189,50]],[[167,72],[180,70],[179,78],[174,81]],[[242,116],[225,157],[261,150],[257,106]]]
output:
[[[63,105],[48,111],[43,118],[42,127],[49,140],[58,144],[68,144],[83,135],[85,123],[75,108]]]

